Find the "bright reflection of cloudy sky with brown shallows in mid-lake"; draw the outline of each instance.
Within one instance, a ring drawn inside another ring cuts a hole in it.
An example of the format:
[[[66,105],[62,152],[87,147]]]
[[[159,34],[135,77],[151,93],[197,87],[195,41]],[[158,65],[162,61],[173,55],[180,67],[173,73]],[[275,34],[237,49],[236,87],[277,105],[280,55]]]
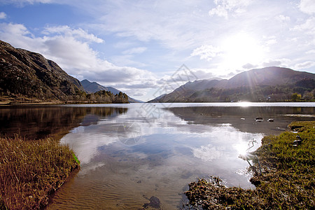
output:
[[[221,176],[228,186],[251,188],[249,176],[239,172],[248,166],[238,158],[239,148],[260,141],[262,132],[209,119],[200,123],[193,107],[158,109],[157,118],[132,105],[125,115],[99,118],[62,138],[78,155],[81,171],[59,190],[50,209],[141,209],[152,196],[163,209],[178,209],[188,183],[209,175]],[[222,118],[225,111],[211,114]]]

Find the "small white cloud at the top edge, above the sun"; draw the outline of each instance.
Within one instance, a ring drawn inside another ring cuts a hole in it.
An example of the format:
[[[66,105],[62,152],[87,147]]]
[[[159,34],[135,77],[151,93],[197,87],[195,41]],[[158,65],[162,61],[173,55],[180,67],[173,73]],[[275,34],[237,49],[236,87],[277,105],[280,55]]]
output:
[[[228,19],[229,13],[233,15],[244,13],[251,0],[214,0],[214,3],[216,8],[209,10],[209,15],[218,15]]]

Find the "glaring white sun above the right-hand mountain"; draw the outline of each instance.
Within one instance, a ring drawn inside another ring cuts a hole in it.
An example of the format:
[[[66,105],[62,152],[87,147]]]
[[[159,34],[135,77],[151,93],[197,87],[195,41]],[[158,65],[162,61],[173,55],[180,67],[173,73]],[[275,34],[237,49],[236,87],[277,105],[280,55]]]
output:
[[[245,64],[260,64],[265,59],[266,49],[244,32],[225,38],[222,49],[224,64],[234,69]]]

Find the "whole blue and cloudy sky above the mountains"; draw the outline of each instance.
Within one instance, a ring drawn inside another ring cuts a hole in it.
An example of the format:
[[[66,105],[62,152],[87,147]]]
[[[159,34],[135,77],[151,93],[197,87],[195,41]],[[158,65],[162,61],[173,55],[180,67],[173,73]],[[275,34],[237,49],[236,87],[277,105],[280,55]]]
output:
[[[0,0],[0,40],[148,101],[265,66],[315,73],[315,1]]]

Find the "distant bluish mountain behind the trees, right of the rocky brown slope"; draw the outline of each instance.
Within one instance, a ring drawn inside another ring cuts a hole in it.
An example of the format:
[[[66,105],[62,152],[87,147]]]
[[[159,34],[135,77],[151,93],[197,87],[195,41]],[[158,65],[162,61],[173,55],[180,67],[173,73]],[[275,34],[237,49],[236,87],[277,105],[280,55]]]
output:
[[[113,94],[119,94],[119,92],[122,92],[120,90],[117,90],[114,87],[104,87],[103,85],[99,85],[99,83],[97,83],[97,82],[90,82],[87,79],[80,81],[80,83],[83,85],[85,91],[90,92],[90,93],[98,92],[99,90],[110,91]],[[128,97],[128,101],[130,103],[140,103],[141,102],[137,99],[133,99],[132,97]]]

